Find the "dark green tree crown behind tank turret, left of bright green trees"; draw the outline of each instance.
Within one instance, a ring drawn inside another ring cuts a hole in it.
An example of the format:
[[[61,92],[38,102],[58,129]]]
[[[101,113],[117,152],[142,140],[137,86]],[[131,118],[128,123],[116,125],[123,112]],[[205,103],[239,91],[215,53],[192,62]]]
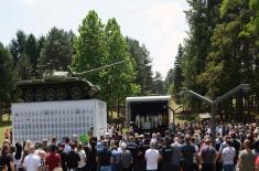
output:
[[[40,39],[40,45],[44,42],[41,49],[40,64],[46,65],[52,61],[55,70],[66,70],[71,64],[74,49],[74,33],[66,32],[63,29],[52,28],[46,39]]]

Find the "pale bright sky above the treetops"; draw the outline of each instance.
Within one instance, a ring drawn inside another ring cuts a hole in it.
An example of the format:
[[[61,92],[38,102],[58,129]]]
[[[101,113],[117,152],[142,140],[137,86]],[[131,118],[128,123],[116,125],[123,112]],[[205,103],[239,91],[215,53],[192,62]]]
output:
[[[179,43],[186,38],[185,0],[7,0],[0,6],[0,42],[8,45],[21,29],[36,36],[51,28],[77,29],[89,10],[104,23],[116,18],[123,35],[145,44],[153,71],[165,77]]]

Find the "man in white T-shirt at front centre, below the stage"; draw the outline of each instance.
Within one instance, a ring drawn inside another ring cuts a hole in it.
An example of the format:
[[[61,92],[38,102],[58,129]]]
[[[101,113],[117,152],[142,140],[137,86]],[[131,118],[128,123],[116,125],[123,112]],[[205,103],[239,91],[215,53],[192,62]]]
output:
[[[144,153],[144,158],[147,160],[147,171],[158,171],[158,163],[160,159],[159,151],[154,149],[155,142],[150,142],[150,149],[148,149]]]

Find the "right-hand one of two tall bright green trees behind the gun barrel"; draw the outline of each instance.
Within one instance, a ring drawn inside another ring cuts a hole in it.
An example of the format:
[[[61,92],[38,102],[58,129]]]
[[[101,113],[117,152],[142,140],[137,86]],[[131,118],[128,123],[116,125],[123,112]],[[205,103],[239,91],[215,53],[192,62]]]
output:
[[[116,19],[108,20],[105,26],[105,40],[108,47],[106,63],[118,61],[125,61],[125,63],[123,66],[101,72],[102,81],[105,81],[101,84],[101,94],[109,99],[108,101],[112,101],[112,99],[123,100],[128,95],[138,94],[139,88],[134,83],[137,76],[136,64],[129,57],[127,43]]]

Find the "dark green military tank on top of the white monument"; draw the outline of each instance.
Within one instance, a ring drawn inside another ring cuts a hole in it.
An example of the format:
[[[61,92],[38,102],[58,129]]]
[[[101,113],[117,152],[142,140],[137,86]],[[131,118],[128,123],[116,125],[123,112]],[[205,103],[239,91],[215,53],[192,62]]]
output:
[[[42,79],[21,81],[17,84],[14,89],[17,100],[52,101],[94,98],[100,88],[87,81],[86,75],[122,63],[123,61],[83,73],[75,73],[69,66],[67,72],[47,68]]]

